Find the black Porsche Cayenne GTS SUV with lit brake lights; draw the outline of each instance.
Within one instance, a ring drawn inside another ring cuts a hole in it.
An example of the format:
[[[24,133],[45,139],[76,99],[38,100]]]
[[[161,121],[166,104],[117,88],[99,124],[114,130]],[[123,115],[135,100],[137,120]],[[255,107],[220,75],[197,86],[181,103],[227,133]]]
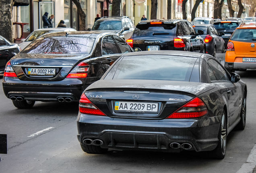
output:
[[[203,31],[198,31],[203,34]],[[184,50],[205,53],[205,43],[187,20],[140,21],[126,42],[143,50]]]

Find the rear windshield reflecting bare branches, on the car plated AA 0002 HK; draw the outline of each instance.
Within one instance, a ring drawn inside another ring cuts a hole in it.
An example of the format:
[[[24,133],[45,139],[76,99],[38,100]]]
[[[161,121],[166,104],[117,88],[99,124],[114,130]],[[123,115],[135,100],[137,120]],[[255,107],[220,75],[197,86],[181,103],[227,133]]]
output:
[[[89,54],[95,38],[52,37],[38,38],[21,53],[28,54]]]

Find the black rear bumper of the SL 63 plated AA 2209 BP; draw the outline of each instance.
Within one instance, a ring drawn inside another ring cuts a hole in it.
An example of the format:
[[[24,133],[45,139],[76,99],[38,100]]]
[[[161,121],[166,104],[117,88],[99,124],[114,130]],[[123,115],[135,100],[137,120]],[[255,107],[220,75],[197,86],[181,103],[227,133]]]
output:
[[[189,150],[211,151],[217,147],[219,121],[207,119],[215,123],[206,125],[204,118],[142,120],[78,113],[77,137],[81,144],[84,139],[101,139],[101,147],[108,149],[180,152],[184,149],[173,149],[170,144],[188,143]]]

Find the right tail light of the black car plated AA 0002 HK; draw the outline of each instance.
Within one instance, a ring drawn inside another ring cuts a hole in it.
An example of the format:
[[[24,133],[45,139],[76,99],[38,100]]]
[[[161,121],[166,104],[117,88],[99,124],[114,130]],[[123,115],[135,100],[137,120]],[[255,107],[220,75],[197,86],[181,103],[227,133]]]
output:
[[[89,64],[80,62],[77,66],[66,76],[66,78],[86,78],[89,71]]]

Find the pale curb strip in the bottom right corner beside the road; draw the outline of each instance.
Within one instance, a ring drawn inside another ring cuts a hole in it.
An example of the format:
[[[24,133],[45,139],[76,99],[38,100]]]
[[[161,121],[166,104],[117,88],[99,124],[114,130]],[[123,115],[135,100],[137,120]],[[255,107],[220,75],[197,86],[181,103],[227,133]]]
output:
[[[252,148],[246,163],[236,173],[253,173],[254,168],[256,167],[256,144]]]

